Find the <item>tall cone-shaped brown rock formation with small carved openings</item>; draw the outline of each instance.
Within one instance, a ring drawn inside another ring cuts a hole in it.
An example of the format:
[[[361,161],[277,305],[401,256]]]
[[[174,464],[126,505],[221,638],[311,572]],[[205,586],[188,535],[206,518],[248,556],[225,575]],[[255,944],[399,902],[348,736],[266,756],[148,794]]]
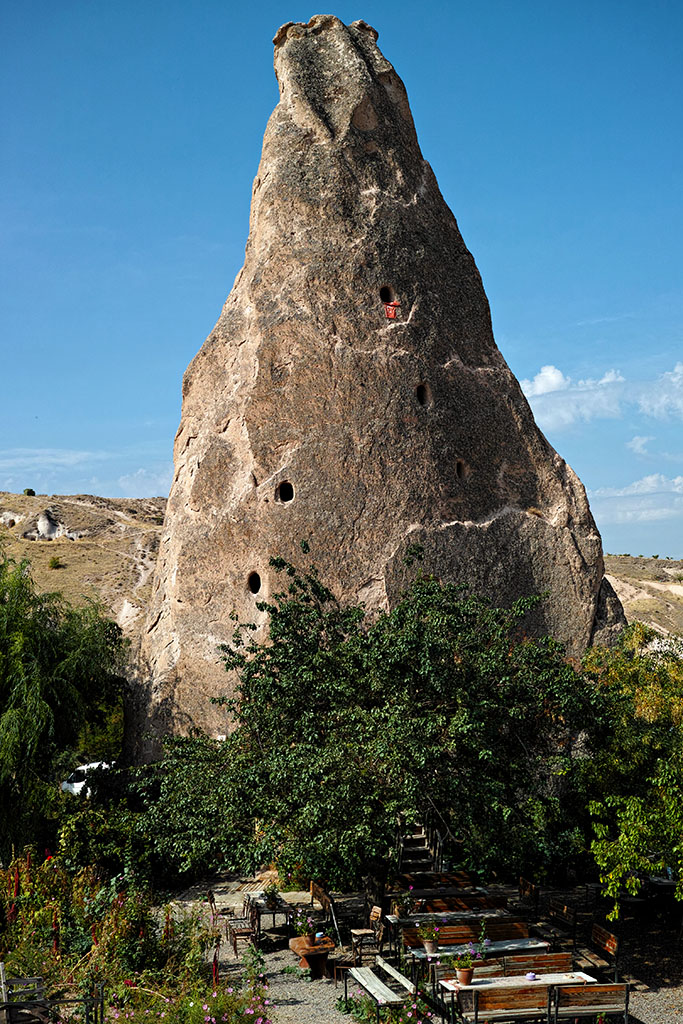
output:
[[[189,365],[143,640],[148,725],[222,731],[230,612],[257,623],[271,555],[343,600],[395,602],[423,568],[508,603],[571,652],[623,623],[580,480],[494,341],[474,260],[364,22],[274,38],[280,102],[245,264]]]

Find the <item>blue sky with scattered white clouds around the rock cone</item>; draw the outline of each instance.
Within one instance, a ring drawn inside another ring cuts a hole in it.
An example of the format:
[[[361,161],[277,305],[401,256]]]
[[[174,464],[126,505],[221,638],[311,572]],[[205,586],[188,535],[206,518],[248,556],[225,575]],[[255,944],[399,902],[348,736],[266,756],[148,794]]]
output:
[[[408,88],[498,345],[605,550],[683,557],[683,5],[24,0],[0,22],[0,489],[166,494],[244,258],[281,24]]]

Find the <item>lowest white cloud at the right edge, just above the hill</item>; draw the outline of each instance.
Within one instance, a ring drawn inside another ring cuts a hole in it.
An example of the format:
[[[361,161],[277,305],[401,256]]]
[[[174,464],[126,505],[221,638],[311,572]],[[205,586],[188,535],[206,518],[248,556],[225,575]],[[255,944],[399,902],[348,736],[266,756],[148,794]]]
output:
[[[650,473],[625,487],[589,492],[596,519],[602,523],[683,521],[683,476]]]

